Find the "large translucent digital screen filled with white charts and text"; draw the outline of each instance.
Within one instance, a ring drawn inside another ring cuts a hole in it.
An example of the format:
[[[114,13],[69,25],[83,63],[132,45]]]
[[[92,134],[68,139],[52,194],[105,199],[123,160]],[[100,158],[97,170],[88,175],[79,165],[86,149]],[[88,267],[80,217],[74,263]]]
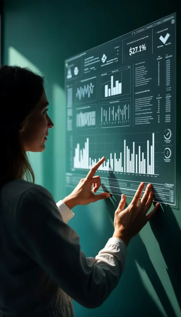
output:
[[[175,205],[176,14],[66,59],[66,186],[103,156],[101,191]]]

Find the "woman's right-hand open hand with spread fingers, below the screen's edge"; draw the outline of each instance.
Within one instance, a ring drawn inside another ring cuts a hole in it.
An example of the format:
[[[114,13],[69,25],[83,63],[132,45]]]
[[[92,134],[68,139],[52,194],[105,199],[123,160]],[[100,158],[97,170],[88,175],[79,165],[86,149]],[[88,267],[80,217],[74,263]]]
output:
[[[153,202],[153,191],[151,191],[151,184],[147,185],[145,193],[139,200],[144,188],[144,183],[141,183],[136,191],[132,202],[124,209],[126,204],[126,197],[122,195],[117,210],[115,211],[114,227],[115,231],[113,237],[121,239],[126,246],[133,236],[135,236],[145,226],[145,224],[153,217],[159,208],[159,203],[155,205],[153,210],[147,215]]]

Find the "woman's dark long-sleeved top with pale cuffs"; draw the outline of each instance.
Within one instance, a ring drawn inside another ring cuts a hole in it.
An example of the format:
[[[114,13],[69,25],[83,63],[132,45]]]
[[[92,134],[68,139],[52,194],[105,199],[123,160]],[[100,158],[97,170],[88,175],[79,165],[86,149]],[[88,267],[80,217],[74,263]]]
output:
[[[0,317],[72,317],[72,298],[94,308],[116,287],[126,246],[110,238],[86,258],[66,222],[73,216],[49,191],[18,179],[0,191]]]

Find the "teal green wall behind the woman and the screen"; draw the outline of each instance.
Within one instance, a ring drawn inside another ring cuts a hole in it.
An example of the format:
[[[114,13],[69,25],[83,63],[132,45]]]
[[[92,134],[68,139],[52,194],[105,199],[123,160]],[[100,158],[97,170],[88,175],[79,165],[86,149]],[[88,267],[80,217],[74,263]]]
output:
[[[30,160],[35,182],[51,191],[56,201],[66,195],[64,59],[175,12],[175,3],[153,0],[147,1],[145,7],[135,0],[4,1],[3,63],[30,66],[47,77],[49,115],[55,126],[50,131],[46,150],[30,153]],[[177,49],[180,55],[180,47]],[[179,69],[178,59],[178,74]],[[177,111],[178,149],[181,133],[179,105]],[[75,316],[181,316],[180,154],[178,149],[177,205],[172,208],[163,205],[152,222],[132,239],[126,270],[108,300],[94,310],[74,302]],[[96,256],[113,234],[117,205],[117,197],[113,197],[75,208],[70,226],[80,236],[81,247],[87,256]]]

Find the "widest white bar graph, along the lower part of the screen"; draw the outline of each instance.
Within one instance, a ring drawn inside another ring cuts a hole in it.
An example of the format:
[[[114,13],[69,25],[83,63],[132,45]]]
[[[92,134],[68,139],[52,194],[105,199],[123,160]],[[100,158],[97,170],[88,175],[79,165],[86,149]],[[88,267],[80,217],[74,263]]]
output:
[[[110,158],[104,161],[98,170],[158,175],[154,171],[154,133],[152,133],[152,142],[147,140],[146,143],[147,152],[142,152],[141,146],[133,142],[130,148],[125,139],[124,152],[110,153]],[[89,156],[89,138],[86,139],[83,149],[80,149],[80,144],[77,143],[73,158],[74,169],[90,169],[96,162],[97,159]]]

